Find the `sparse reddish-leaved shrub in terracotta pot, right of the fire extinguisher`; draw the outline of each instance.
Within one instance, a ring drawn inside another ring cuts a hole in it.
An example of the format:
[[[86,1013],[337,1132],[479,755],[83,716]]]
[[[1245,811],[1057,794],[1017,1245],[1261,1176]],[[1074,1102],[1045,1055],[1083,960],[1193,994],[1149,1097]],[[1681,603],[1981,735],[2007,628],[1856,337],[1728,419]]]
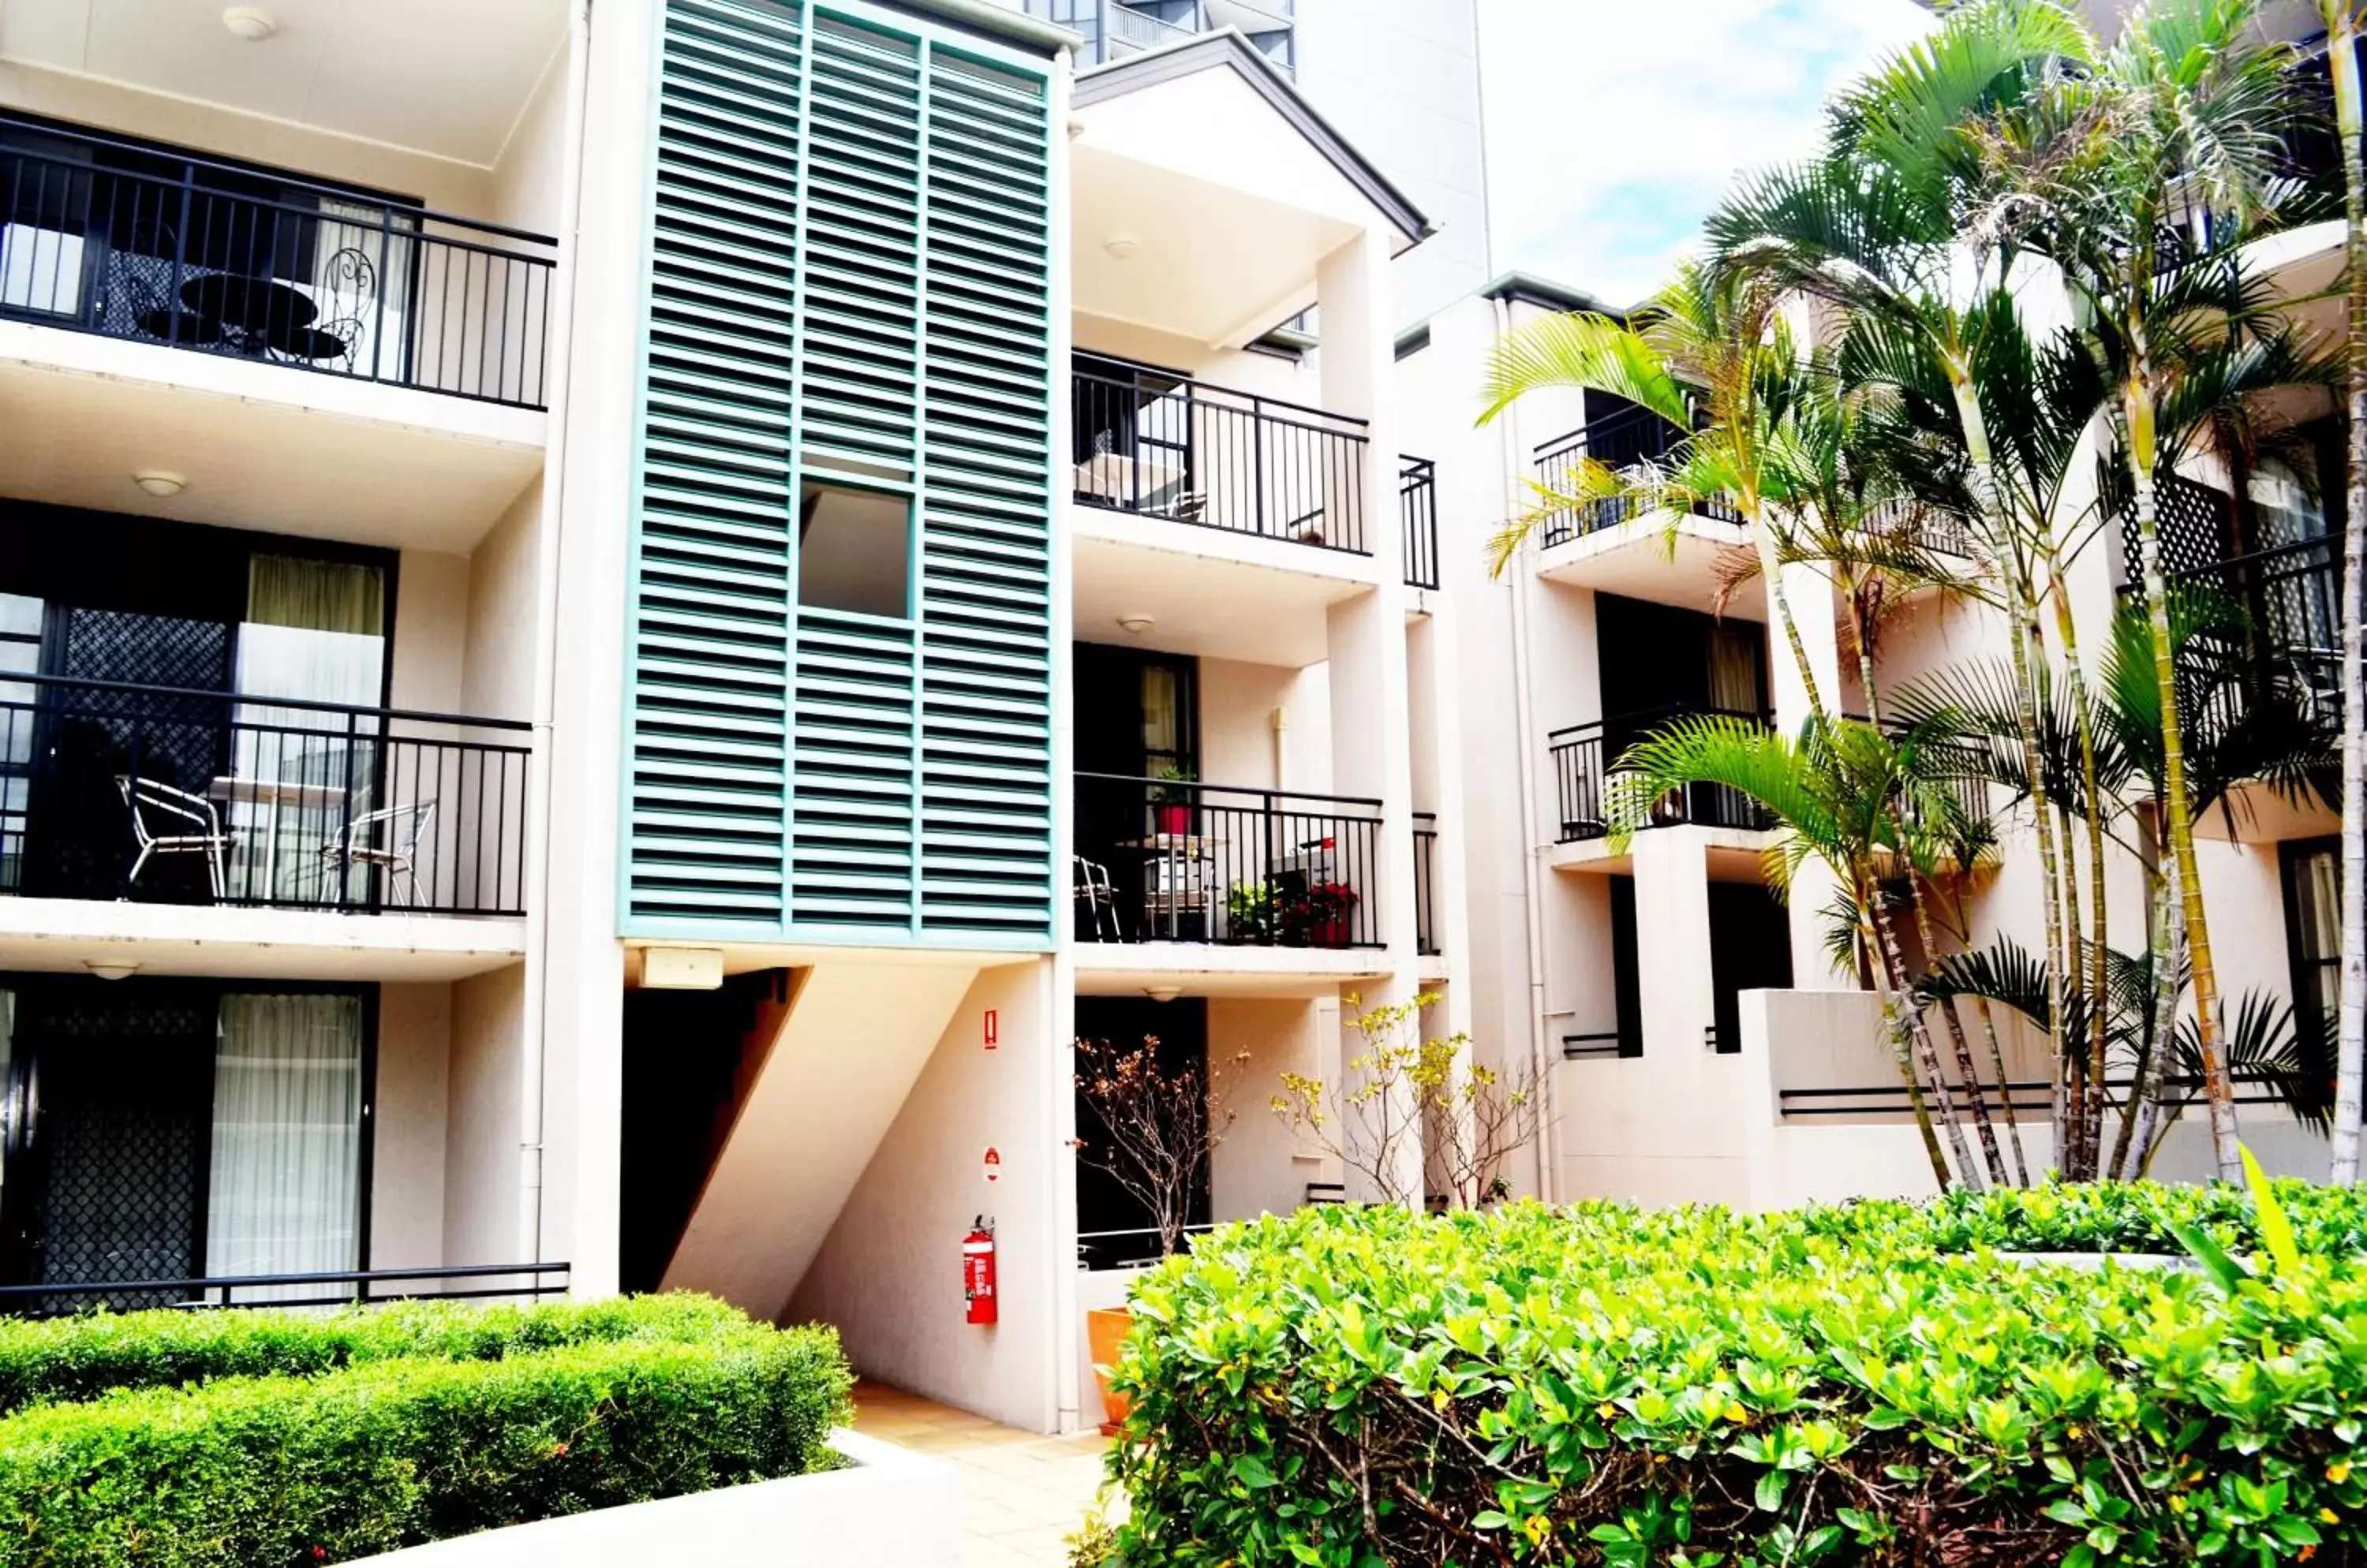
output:
[[[1129,1050],[1077,1041],[1077,1093],[1084,1100],[1077,1130],[1084,1135],[1070,1147],[1150,1213],[1162,1258],[1184,1251],[1193,1204],[1207,1194],[1210,1159],[1233,1126],[1231,1090],[1247,1060],[1250,1052],[1240,1050],[1219,1071],[1205,1060],[1162,1052],[1155,1036]],[[1110,1391],[1110,1367],[1131,1327],[1127,1308],[1084,1315],[1105,1436],[1117,1433],[1129,1410],[1127,1398]]]

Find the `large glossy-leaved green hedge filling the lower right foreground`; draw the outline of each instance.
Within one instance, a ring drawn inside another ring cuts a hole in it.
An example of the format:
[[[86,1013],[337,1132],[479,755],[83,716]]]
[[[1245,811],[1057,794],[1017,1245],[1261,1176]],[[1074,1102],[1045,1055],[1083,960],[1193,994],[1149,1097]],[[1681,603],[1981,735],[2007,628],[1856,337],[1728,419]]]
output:
[[[2348,1258],[2225,1291],[1953,1251],[1967,1223],[1513,1206],[1219,1230],[1134,1291],[1120,1551],[2367,1561]]]

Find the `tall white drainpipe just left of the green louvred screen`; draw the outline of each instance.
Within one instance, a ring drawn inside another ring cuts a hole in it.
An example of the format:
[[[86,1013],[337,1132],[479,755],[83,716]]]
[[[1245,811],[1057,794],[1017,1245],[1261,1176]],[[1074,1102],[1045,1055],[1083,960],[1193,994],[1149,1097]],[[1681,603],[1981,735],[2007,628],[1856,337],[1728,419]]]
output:
[[[549,1026],[552,986],[552,728],[559,710],[559,534],[566,520],[568,494],[568,374],[575,341],[575,255],[582,239],[582,182],[585,182],[585,99],[592,73],[592,0],[575,0],[568,17],[568,106],[561,135],[568,144],[566,180],[559,187],[559,265],[552,279],[552,319],[561,322],[559,343],[552,345],[552,374],[547,385],[556,388],[549,402],[549,421],[542,442],[542,542],[535,561],[535,759],[537,788],[535,811],[542,832],[525,837],[528,870],[525,901],[525,958],[528,986],[523,1003],[521,1064],[525,1093],[518,1100],[518,1237],[525,1242],[525,1261],[542,1263],[542,1095],[549,1076],[549,1050],[544,1031]]]

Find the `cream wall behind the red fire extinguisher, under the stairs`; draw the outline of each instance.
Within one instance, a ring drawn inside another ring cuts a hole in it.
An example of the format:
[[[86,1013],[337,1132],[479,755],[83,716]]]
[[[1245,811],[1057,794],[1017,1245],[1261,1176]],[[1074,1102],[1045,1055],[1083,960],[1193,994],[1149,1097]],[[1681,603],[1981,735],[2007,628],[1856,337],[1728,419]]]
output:
[[[982,1048],[997,1012],[999,1045]],[[987,970],[954,1007],[788,1303],[786,1322],[838,1324],[866,1376],[1027,1431],[1056,1431],[1056,1270],[1072,1270],[1075,1213],[1056,1213],[1075,1154],[1053,1104],[1070,1090],[1053,1031],[1051,963]],[[985,1180],[997,1149],[999,1178]],[[963,1322],[961,1237],[994,1220],[1001,1320]],[[1079,1324],[1082,1331],[1082,1324]]]

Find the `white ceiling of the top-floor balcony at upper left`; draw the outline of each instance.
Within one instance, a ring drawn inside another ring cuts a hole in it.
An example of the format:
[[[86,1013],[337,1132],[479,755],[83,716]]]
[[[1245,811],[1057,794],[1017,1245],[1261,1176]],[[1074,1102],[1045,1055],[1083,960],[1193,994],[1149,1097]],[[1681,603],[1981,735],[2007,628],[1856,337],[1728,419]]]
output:
[[[566,38],[566,0],[0,0],[0,59],[492,166]]]

